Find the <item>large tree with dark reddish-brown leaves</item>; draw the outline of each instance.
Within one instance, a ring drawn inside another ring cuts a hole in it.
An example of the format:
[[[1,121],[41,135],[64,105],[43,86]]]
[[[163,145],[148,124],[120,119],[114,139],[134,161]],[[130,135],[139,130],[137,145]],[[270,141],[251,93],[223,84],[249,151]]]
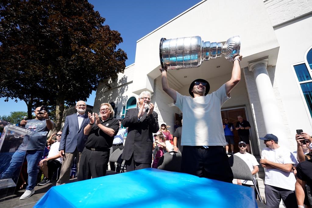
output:
[[[127,56],[118,31],[86,0],[0,2],[0,96],[55,106],[54,131],[64,104],[86,100],[99,82],[110,87]]]

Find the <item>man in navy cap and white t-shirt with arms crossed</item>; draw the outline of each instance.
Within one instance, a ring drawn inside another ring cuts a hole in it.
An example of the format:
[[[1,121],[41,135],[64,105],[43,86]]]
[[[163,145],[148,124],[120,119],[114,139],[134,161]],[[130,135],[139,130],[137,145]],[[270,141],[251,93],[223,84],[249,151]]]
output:
[[[295,196],[295,174],[292,172],[296,163],[292,153],[278,145],[278,138],[273,134],[260,137],[267,148],[261,152],[260,163],[265,171],[266,205],[279,207],[280,200],[285,206],[297,207]]]

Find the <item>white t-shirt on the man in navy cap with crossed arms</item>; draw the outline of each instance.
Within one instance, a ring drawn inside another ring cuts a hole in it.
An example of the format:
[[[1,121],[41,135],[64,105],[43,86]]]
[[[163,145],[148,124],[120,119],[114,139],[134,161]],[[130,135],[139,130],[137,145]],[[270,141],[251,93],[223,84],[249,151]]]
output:
[[[262,159],[280,164],[295,164],[296,160],[292,153],[284,148],[277,149],[264,148],[262,150]],[[285,172],[277,168],[264,168],[266,177],[264,184],[284,188],[295,191],[295,174],[293,172]]]

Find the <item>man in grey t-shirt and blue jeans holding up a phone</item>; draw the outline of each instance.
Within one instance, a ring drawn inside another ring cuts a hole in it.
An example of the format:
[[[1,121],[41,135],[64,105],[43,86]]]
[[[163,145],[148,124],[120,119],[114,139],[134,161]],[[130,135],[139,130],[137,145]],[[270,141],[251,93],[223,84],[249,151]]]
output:
[[[49,119],[48,113],[37,107],[35,110],[35,119],[22,120],[21,126],[25,125],[25,128],[33,130],[35,132],[45,132],[54,128],[54,123]],[[17,167],[21,166],[24,161],[24,157],[27,160],[27,173],[28,173],[28,185],[26,186],[25,193],[20,199],[27,199],[32,196],[35,191],[37,181],[37,165],[43,155],[44,148],[46,146],[46,136],[41,137],[24,137],[22,144],[17,151],[13,154],[9,167],[5,172],[1,174],[0,179],[11,178],[13,172]]]

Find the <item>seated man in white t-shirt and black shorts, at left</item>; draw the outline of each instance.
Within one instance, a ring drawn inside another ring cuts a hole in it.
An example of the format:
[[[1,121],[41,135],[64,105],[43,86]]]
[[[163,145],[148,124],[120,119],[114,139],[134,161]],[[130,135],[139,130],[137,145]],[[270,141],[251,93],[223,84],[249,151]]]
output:
[[[48,157],[39,162],[40,169],[44,175],[42,181],[38,183],[39,186],[43,186],[49,183],[53,173],[62,166],[62,158],[58,150],[60,147],[61,136],[61,131],[56,133],[56,142],[51,145]]]

